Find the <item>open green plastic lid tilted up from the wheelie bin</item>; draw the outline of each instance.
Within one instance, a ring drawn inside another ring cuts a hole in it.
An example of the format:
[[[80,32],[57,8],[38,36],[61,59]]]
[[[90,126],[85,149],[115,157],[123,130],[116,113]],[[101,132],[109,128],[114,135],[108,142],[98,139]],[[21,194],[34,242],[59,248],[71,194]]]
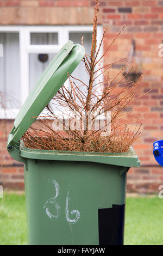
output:
[[[71,40],[61,48],[57,56],[47,66],[20,109],[14,121],[14,127],[8,137],[8,151],[14,149],[15,145],[35,121],[36,118],[32,117],[40,115],[67,80],[67,72],[71,74],[76,69],[84,54],[85,48],[79,44],[73,45]]]

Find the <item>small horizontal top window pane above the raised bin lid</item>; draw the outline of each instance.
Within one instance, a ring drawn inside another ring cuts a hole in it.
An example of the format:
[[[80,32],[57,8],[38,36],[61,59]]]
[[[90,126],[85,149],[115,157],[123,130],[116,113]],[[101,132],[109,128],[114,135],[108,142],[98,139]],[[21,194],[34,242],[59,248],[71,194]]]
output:
[[[58,33],[30,33],[32,45],[57,45]]]

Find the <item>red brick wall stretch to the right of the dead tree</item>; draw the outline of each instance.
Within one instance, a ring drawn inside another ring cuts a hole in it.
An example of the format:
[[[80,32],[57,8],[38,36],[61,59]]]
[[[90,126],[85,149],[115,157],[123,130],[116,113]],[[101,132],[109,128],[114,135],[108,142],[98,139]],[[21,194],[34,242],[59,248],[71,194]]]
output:
[[[163,57],[159,57],[159,44],[163,42],[163,1],[105,1],[102,7],[103,27],[108,36],[104,48],[109,44],[122,25],[126,28],[110,48],[104,62],[127,57],[131,40],[136,42],[136,54],[139,56],[143,78],[137,90],[138,95],[150,93],[136,100],[139,108],[129,114],[130,118],[143,118],[142,131],[145,133],[135,144],[134,149],[141,161],[140,168],[131,168],[128,175],[128,191],[158,192],[163,184],[163,168],[154,160],[153,142],[163,139]],[[126,62],[124,62],[125,64]],[[110,76],[120,70],[122,64],[116,64],[110,70]],[[132,110],[133,108],[131,108]],[[140,121],[141,123],[141,121]]]

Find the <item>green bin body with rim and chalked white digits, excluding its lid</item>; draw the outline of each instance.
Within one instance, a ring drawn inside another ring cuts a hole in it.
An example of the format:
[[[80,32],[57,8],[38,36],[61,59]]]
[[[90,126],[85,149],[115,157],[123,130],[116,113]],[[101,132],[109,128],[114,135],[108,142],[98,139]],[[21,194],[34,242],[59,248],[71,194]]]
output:
[[[127,154],[22,149],[21,156],[29,245],[123,244],[128,164],[139,166],[132,148]]]

